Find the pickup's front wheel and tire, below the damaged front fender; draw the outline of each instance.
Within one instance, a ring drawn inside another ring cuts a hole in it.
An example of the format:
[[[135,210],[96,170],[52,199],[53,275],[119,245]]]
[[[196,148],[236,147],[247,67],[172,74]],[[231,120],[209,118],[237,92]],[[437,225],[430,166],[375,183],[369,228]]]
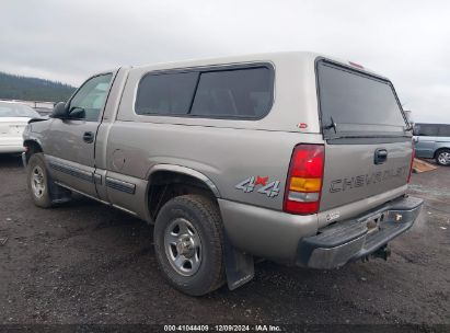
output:
[[[48,172],[42,152],[32,154],[26,172],[26,181],[33,203],[42,208],[51,207]]]

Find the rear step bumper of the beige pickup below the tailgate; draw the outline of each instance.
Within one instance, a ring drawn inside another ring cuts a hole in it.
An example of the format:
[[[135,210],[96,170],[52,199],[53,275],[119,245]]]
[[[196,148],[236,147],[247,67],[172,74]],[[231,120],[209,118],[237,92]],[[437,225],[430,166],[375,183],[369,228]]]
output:
[[[358,218],[327,226],[319,234],[300,240],[297,264],[328,269],[365,259],[409,229],[423,202],[402,197]]]

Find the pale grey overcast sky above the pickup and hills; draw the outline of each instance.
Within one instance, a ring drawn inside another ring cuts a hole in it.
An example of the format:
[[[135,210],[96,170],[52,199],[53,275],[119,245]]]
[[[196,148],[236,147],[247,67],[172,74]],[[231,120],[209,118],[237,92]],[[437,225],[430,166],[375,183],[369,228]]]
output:
[[[122,65],[277,50],[361,64],[416,122],[450,124],[450,1],[0,0],[0,71],[73,85]]]

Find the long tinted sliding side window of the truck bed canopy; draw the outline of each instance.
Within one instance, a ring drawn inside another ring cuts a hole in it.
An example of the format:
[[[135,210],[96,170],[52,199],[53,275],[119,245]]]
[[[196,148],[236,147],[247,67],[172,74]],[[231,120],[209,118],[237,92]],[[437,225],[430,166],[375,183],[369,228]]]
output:
[[[139,82],[138,115],[259,119],[273,103],[268,66],[149,72]]]

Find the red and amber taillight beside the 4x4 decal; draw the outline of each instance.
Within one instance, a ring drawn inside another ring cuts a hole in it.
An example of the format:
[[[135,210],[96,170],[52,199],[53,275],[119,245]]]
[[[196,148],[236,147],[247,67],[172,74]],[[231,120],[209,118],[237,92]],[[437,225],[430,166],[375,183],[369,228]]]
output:
[[[284,210],[290,214],[315,214],[319,211],[325,162],[321,145],[298,145],[290,160]]]

